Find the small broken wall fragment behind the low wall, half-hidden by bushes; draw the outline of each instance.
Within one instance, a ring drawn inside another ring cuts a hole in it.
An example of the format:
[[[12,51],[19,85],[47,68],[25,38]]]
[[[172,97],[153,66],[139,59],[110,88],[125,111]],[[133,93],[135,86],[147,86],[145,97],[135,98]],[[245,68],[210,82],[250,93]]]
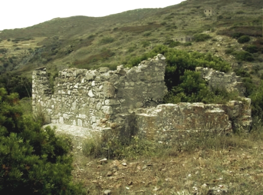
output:
[[[246,92],[240,76],[236,76],[235,72],[225,73],[204,67],[196,67],[195,70],[201,72],[201,76],[208,82],[211,88],[225,88],[228,92],[236,90],[239,96],[244,96]]]

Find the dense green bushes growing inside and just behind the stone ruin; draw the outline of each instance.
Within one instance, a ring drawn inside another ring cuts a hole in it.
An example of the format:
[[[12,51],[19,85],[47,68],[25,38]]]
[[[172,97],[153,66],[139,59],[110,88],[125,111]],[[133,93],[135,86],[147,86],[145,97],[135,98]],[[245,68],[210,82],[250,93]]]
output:
[[[178,103],[182,101],[215,103],[224,101],[226,96],[222,94],[225,92],[209,92],[200,73],[194,71],[195,67],[202,66],[227,72],[230,69],[230,65],[221,58],[213,56],[210,53],[188,52],[158,45],[141,57],[133,57],[127,64],[128,66],[138,65],[141,61],[152,58],[157,54],[163,54],[166,58],[167,66],[164,79],[169,91],[168,95],[164,98],[166,103]],[[221,95],[216,97],[217,94]]]

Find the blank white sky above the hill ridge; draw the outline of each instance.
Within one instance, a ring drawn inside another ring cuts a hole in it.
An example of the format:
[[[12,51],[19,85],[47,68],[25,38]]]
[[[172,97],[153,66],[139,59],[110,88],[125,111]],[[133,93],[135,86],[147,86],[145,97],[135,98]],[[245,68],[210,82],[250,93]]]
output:
[[[163,8],[184,0],[1,0],[0,31],[30,27],[53,18],[102,17],[139,8]]]

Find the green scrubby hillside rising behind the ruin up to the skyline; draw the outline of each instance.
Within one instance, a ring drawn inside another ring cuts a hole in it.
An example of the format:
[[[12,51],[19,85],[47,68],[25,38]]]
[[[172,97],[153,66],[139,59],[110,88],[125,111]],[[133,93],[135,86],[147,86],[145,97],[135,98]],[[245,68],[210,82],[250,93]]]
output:
[[[166,8],[137,9],[100,18],[56,18],[25,29],[4,30],[0,33],[0,72],[30,75],[39,66],[46,66],[50,72],[67,67],[115,68],[157,44],[202,32],[213,38],[176,47],[217,53],[234,63],[225,49],[240,49],[242,45],[225,35],[235,31],[248,33],[253,39],[262,36],[261,2],[187,0]],[[204,14],[207,7],[212,8],[212,17]]]

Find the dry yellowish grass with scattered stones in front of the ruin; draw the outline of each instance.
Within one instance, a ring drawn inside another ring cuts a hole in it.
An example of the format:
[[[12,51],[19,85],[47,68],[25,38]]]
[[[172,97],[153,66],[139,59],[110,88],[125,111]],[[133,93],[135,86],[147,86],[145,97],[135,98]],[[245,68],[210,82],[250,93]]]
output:
[[[78,153],[74,176],[92,195],[206,195],[227,186],[229,195],[263,193],[263,133],[191,137],[179,150],[156,143],[148,156],[91,159]],[[142,140],[143,141],[143,140]]]

